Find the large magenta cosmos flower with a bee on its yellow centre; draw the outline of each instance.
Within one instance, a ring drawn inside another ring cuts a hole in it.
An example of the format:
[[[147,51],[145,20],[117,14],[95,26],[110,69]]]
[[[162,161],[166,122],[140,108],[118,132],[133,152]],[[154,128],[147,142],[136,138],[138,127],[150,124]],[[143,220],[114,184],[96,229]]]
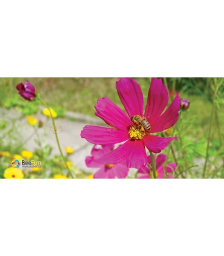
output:
[[[177,137],[158,137],[151,133],[162,132],[172,127],[178,120],[180,97],[177,95],[163,113],[168,103],[168,92],[161,79],[152,77],[147,104],[144,112],[144,101],[141,87],[130,77],[121,77],[116,82],[117,93],[127,114],[108,98],[97,100],[96,116],[102,118],[110,127],[85,126],[81,137],[93,144],[122,143],[122,146],[97,159],[104,165],[121,163],[127,160],[127,166],[139,168],[147,164],[145,147],[154,153],[161,152],[169,141]],[[139,124],[131,121],[131,116],[146,118],[150,130],[142,130]]]

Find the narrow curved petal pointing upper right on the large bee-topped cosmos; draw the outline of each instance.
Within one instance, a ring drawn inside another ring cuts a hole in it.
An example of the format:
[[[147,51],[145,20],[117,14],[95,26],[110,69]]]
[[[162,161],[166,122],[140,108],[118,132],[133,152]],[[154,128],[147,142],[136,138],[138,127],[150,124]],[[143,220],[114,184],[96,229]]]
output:
[[[180,96],[177,94],[175,99],[169,105],[167,110],[161,115],[155,123],[151,124],[150,133],[153,132],[163,132],[163,130],[169,129],[177,123],[180,111]]]

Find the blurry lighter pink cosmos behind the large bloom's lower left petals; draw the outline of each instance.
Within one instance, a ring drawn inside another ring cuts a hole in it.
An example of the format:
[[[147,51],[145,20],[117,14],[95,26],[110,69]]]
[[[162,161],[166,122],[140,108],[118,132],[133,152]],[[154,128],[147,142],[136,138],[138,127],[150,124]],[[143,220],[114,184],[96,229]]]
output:
[[[98,147],[98,148],[97,148]],[[129,169],[127,168],[127,161],[118,163],[117,165],[106,164],[96,162],[95,159],[108,154],[113,151],[114,144],[103,145],[99,148],[99,145],[94,145],[91,151],[91,157],[86,157],[86,166],[89,168],[99,168],[93,175],[93,179],[125,179],[128,175]]]

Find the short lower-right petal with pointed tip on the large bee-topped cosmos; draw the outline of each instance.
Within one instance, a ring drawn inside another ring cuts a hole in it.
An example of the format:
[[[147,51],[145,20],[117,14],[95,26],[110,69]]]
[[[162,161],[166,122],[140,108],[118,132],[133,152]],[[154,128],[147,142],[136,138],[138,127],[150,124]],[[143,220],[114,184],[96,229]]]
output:
[[[160,153],[169,144],[169,141],[177,140],[177,137],[163,138],[155,135],[147,135],[143,138],[144,144],[149,151]]]

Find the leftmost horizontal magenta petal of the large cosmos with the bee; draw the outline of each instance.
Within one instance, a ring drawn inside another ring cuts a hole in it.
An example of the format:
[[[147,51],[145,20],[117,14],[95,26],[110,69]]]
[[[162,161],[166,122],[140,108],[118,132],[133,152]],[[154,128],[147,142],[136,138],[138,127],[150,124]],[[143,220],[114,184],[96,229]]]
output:
[[[83,127],[81,137],[90,143],[101,145],[121,143],[129,139],[128,132],[100,126]]]

